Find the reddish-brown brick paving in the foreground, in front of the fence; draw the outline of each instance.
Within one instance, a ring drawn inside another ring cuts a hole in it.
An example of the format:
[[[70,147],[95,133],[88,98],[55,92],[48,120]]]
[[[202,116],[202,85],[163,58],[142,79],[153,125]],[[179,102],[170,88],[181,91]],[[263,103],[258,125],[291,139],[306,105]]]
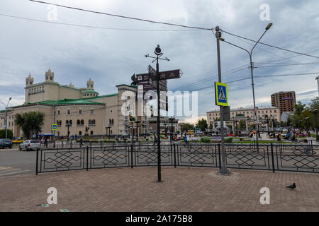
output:
[[[0,211],[319,211],[319,174],[216,168],[91,169],[0,178]],[[286,186],[296,183],[296,190]],[[262,205],[262,187],[270,204]],[[57,205],[47,189],[57,189]]]

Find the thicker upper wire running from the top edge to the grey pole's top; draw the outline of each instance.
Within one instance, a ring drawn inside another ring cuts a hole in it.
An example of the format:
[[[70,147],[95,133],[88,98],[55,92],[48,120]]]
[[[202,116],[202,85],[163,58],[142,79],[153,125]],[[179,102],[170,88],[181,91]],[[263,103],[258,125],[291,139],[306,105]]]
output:
[[[199,29],[199,30],[212,30],[212,28],[199,28],[199,27],[193,27],[193,26],[179,25],[179,24],[176,24],[176,23],[165,23],[165,22],[159,22],[159,21],[155,21],[155,20],[145,20],[145,19],[141,19],[141,18],[135,18],[135,17],[129,17],[129,16],[121,16],[121,15],[117,15],[117,14],[103,13],[103,12],[99,12],[99,11],[91,11],[91,10],[84,9],[84,8],[76,8],[76,7],[72,7],[72,6],[63,6],[63,5],[60,5],[60,4],[53,4],[53,3],[45,2],[45,1],[35,1],[35,0],[29,0],[29,1],[33,1],[33,2],[36,2],[36,3],[40,3],[40,4],[52,5],[52,6],[60,6],[62,8],[71,8],[71,9],[75,9],[75,10],[79,10],[79,11],[85,11],[85,12],[89,12],[89,13],[98,13],[98,14],[102,14],[102,15],[106,15],[106,16],[116,16],[116,17],[119,17],[119,18],[125,18],[125,19],[130,19],[130,20],[140,20],[140,21],[149,22],[149,23],[159,23],[159,24],[164,24],[164,25],[172,25],[172,26],[177,26],[177,27],[181,27],[181,28],[193,28],[193,29]]]

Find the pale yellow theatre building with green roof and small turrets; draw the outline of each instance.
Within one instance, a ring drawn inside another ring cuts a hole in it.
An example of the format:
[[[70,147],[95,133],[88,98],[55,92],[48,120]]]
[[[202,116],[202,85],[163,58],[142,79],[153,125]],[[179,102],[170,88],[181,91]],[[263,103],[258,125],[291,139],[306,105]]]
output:
[[[55,136],[67,135],[67,124],[70,136],[84,136],[85,128],[90,136],[125,136],[132,133],[129,117],[121,113],[121,107],[130,97],[122,97],[126,90],[136,93],[134,85],[116,85],[118,93],[99,95],[94,90],[94,81],[86,82],[85,88],[74,88],[74,85],[60,85],[55,82],[55,75],[48,69],[45,81],[34,83],[29,74],[26,78],[26,94],[23,105],[8,109],[8,129],[15,138],[23,137],[23,133],[14,124],[15,115],[23,112],[43,112],[45,121],[41,133],[52,134],[51,125],[57,124]],[[5,112],[0,112],[0,129],[5,127]],[[108,129],[106,129],[108,127]],[[142,125],[138,125],[139,133]],[[136,133],[136,128],[134,129]]]

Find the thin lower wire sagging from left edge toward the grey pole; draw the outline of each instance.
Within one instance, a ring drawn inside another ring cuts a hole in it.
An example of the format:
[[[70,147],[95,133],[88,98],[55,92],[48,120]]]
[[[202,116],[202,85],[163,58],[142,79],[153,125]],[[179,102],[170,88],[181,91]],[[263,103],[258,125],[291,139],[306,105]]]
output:
[[[91,26],[91,25],[80,25],[80,24],[74,24],[74,23],[60,23],[60,22],[54,22],[54,21],[47,21],[47,20],[38,20],[33,18],[25,18],[21,16],[12,16],[12,15],[6,15],[0,13],[0,16],[6,16],[10,18],[17,18],[21,20],[30,20],[30,21],[37,21],[37,22],[43,22],[43,23],[53,23],[57,25],[68,25],[68,26],[74,26],[74,27],[82,27],[82,28],[99,28],[99,29],[106,29],[106,30],[128,30],[128,31],[195,31],[190,29],[181,29],[181,30],[150,30],[150,29],[129,29],[129,28],[106,28],[106,27],[99,27],[99,26]]]

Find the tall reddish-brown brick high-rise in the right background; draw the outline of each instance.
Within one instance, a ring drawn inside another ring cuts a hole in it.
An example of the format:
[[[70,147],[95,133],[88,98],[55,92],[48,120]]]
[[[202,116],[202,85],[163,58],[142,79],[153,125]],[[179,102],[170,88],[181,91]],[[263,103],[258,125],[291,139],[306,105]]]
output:
[[[272,106],[279,107],[282,112],[294,112],[296,105],[295,91],[279,92],[272,94]]]

